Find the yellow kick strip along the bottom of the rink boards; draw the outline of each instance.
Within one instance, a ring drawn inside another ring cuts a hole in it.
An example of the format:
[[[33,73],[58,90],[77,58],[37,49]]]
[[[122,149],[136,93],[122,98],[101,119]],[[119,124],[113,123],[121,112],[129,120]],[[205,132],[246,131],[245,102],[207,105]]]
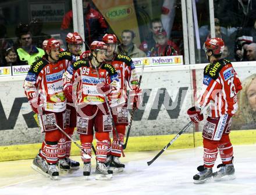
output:
[[[202,146],[201,132],[184,133],[182,134],[168,149],[184,149]],[[165,147],[175,135],[158,135],[158,136],[139,136],[129,138],[126,151],[147,151],[147,150],[161,150]],[[195,140],[195,142],[194,142]],[[240,130],[232,131],[230,133],[230,140],[233,145],[248,145],[256,143],[256,131],[254,130]],[[80,144],[80,141],[77,140]],[[195,143],[195,145],[194,145]],[[95,140],[94,140],[95,146]],[[41,143],[34,143],[29,145],[12,145],[0,146],[0,161],[22,160],[34,158],[41,148]],[[79,148],[72,143],[72,156],[80,155]]]

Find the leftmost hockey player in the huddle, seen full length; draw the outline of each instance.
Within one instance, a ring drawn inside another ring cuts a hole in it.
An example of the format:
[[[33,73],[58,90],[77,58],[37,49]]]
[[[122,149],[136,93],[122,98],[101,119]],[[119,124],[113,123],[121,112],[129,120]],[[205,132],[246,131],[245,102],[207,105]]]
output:
[[[66,99],[62,75],[69,61],[59,60],[60,44],[56,39],[48,39],[43,44],[46,55],[30,67],[23,87],[32,110],[38,114],[41,131],[45,133],[32,167],[43,175],[57,179],[58,140],[62,133],[54,123],[64,129]]]

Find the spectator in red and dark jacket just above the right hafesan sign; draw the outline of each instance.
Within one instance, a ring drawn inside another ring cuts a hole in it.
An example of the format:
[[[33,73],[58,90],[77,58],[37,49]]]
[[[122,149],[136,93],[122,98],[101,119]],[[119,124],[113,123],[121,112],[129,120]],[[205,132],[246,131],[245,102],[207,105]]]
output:
[[[156,34],[157,44],[151,52],[151,56],[177,56],[177,51],[173,48],[175,45],[167,38],[166,31],[162,28]]]

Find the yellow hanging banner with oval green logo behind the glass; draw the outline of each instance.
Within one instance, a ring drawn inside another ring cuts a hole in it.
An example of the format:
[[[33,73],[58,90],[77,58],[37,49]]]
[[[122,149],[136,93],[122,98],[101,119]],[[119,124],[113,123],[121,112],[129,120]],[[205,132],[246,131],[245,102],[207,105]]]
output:
[[[140,33],[132,0],[93,0],[93,2],[119,40],[121,32],[128,29],[135,32],[136,37],[133,42],[137,46],[140,45]]]

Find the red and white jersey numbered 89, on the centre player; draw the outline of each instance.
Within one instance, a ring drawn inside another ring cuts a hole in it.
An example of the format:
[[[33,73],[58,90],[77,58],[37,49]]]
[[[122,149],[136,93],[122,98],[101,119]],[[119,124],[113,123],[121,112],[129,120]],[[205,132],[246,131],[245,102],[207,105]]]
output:
[[[76,84],[78,104],[104,103],[104,95],[98,92],[96,86],[101,82],[106,82],[115,89],[120,88],[118,74],[111,64],[102,63],[97,70],[98,74],[90,60],[82,59],[70,65],[63,74],[64,89],[69,85]]]

